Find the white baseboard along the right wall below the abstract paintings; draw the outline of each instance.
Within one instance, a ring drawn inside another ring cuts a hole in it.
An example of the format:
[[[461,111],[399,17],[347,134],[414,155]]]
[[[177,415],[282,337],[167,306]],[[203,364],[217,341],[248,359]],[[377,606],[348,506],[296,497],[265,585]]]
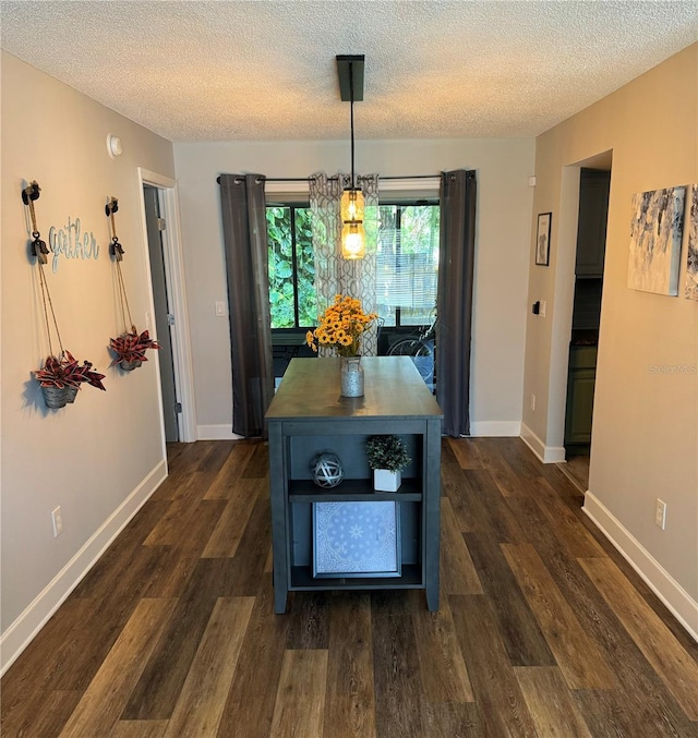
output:
[[[652,592],[669,607],[691,638],[698,641],[698,602],[690,597],[688,592],[591,492],[585,495],[581,509],[647,582]]]

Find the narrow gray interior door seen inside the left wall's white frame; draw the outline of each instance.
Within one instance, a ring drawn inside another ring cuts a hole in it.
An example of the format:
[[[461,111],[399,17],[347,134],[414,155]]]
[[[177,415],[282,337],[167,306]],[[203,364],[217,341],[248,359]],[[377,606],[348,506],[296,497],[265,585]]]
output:
[[[165,439],[168,443],[179,440],[177,387],[174,385],[174,363],[172,359],[171,322],[167,298],[167,278],[163,256],[163,232],[160,230],[160,206],[157,187],[143,185],[145,220],[151,254],[151,278],[153,281],[153,302],[155,304],[155,327],[160,344],[160,386],[163,387],[163,414],[165,420]]]

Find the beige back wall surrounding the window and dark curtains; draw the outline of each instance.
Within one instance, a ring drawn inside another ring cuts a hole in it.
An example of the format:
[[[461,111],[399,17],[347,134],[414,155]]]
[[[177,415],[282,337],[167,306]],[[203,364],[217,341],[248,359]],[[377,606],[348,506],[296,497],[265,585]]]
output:
[[[230,434],[227,300],[216,178],[221,172],[308,177],[346,171],[349,142],[176,144],[200,437]],[[357,171],[384,177],[478,172],[472,339],[472,432],[518,435],[521,420],[532,140],[359,141]]]

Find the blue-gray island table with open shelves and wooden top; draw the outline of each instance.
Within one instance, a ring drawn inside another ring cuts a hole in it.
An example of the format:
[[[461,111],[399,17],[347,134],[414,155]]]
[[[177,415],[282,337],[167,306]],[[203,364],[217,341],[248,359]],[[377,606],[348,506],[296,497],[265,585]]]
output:
[[[338,359],[293,359],[266,413],[276,613],[286,612],[289,591],[303,590],[423,589],[429,609],[438,609],[443,413],[409,356],[361,363],[364,396],[346,398]],[[373,491],[365,453],[366,438],[387,434],[411,457],[396,493]],[[336,453],[345,470],[329,489],[312,479],[311,461],[323,452]],[[316,505],[375,501],[397,503],[397,571],[315,571]]]

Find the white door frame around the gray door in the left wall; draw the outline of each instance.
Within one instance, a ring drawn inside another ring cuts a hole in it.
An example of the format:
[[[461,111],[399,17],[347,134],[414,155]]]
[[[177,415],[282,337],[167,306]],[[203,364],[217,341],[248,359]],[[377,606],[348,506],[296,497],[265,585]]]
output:
[[[172,315],[174,315],[174,325],[170,331],[172,339],[172,363],[174,368],[174,391],[177,401],[182,406],[182,412],[179,413],[177,423],[180,440],[183,443],[192,443],[196,440],[196,412],[194,406],[193,365],[189,331],[189,317],[186,310],[186,290],[184,287],[184,261],[182,254],[177,181],[169,177],[158,174],[157,172],[143,169],[142,167],[139,167],[137,171],[139,192],[141,197],[141,227],[143,230],[144,244],[147,245],[147,225],[145,218],[145,198],[143,196],[143,185],[148,184],[158,191],[160,214],[167,223],[167,228],[161,231],[163,258],[165,262],[168,305]],[[148,254],[147,247],[145,249],[145,256],[148,273],[148,301],[151,305],[151,314],[154,316],[155,303],[153,300],[153,282],[151,277],[151,255]],[[154,318],[148,320],[148,323],[154,325]],[[159,371],[157,372],[157,386],[158,400],[160,404],[163,445],[165,445],[163,387],[160,383]]]

